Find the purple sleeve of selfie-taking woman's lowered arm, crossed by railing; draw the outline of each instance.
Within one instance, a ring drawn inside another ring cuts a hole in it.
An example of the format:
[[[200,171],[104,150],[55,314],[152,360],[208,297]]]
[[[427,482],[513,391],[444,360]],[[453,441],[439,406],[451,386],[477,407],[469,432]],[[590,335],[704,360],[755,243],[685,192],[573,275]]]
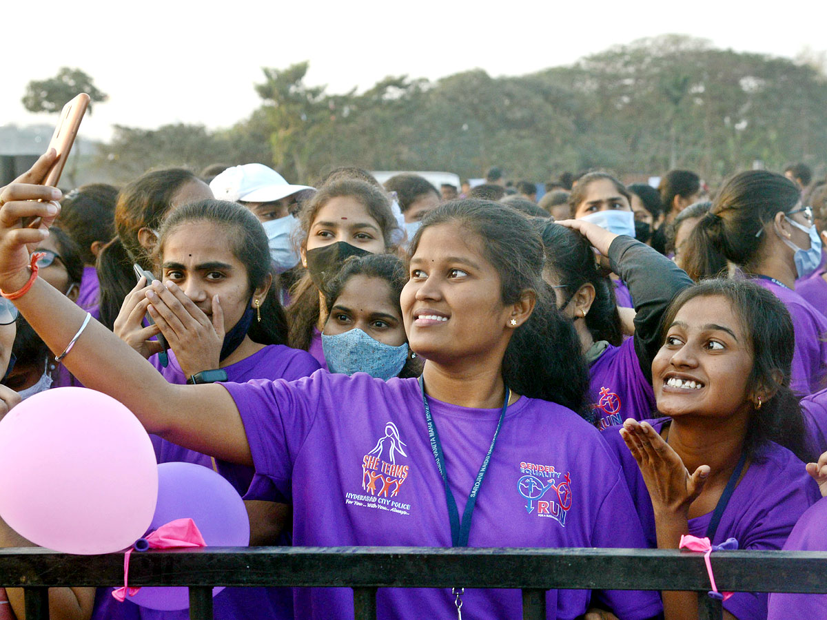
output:
[[[622,472],[603,498],[591,534],[592,546],[621,549],[645,549],[643,528],[634,509],[632,498]],[[645,590],[600,590],[595,593],[619,618],[638,620],[652,618],[662,613],[661,599],[657,592]]]

